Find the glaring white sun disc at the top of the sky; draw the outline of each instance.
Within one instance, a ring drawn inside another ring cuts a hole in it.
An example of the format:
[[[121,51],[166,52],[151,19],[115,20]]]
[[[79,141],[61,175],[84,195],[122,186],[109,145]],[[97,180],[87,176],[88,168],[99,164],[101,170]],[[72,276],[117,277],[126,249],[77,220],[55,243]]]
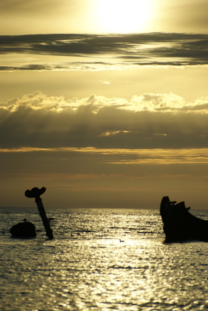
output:
[[[99,0],[99,22],[104,32],[142,32],[150,15],[150,0]]]

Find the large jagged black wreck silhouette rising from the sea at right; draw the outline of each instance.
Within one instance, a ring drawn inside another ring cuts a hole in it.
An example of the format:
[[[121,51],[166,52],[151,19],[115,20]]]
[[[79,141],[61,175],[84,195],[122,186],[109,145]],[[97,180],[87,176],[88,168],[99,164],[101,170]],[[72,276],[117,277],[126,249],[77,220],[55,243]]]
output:
[[[165,242],[200,240],[208,242],[208,220],[200,219],[189,213],[185,203],[170,202],[163,197],[160,215],[163,220]]]

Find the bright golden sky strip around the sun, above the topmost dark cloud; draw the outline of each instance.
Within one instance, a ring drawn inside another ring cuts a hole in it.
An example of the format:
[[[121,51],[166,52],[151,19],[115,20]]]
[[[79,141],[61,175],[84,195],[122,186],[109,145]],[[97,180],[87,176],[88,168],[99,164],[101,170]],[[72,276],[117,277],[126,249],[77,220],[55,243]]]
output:
[[[207,33],[207,0],[1,0],[2,35]]]

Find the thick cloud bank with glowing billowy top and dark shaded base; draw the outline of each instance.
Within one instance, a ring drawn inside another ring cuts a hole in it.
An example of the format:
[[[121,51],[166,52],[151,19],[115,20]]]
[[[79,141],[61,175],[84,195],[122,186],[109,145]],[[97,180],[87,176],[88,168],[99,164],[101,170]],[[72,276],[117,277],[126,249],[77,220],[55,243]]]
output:
[[[0,104],[1,148],[206,148],[208,98],[48,97],[37,91]]]

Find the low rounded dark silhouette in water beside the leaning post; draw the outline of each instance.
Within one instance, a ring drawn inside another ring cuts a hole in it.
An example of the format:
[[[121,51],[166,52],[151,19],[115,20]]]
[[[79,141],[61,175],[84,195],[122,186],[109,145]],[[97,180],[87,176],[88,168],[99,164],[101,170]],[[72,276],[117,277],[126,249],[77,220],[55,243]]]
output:
[[[29,221],[20,222],[19,224],[12,226],[10,233],[13,237],[19,238],[35,237],[35,225]]]

